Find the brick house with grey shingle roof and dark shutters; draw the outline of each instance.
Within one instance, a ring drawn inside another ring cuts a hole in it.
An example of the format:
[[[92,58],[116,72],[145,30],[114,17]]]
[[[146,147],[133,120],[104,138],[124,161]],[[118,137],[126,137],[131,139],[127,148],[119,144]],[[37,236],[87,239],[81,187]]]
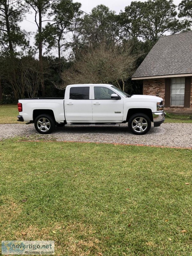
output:
[[[192,31],[159,38],[132,80],[143,94],[162,97],[165,110],[192,114]]]

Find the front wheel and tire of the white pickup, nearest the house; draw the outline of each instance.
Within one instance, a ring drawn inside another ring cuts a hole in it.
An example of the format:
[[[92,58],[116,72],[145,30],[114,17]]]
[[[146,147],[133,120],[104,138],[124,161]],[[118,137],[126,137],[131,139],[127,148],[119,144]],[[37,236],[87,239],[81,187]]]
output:
[[[129,118],[128,126],[132,133],[143,135],[150,130],[151,120],[147,115],[143,113],[137,113]]]

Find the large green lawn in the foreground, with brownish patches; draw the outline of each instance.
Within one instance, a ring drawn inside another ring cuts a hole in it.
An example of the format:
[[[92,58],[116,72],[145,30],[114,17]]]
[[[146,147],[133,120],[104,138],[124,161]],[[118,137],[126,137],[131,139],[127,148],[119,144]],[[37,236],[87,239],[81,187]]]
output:
[[[58,256],[192,255],[191,161],[185,149],[0,141],[1,240],[54,240]]]

